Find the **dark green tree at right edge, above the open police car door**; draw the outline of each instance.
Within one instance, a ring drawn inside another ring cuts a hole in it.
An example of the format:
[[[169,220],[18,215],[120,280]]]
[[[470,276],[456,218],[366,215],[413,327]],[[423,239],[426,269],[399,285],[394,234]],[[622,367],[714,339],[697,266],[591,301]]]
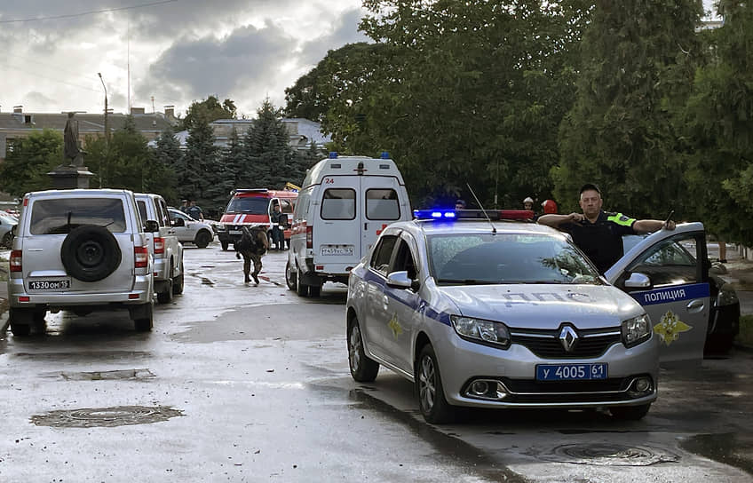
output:
[[[679,119],[687,143],[690,206],[711,233],[753,243],[753,12],[722,1],[722,28],[704,32],[709,62],[698,69]],[[744,214],[744,215],[743,215]]]

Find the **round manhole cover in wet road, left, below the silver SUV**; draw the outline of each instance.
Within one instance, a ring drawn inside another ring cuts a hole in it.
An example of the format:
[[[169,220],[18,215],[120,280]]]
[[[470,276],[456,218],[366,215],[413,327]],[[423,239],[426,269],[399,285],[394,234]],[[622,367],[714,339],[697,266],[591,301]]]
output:
[[[158,423],[175,416],[183,416],[183,412],[164,406],[120,406],[51,411],[46,415],[31,416],[31,422],[56,428],[95,428]]]

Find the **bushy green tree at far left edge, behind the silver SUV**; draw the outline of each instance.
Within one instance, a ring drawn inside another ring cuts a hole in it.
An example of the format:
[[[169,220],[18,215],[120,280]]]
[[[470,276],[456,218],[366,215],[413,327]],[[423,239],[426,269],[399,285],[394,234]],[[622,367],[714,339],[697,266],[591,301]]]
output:
[[[61,132],[33,132],[28,138],[9,142],[5,161],[0,163],[0,190],[21,196],[29,191],[49,189],[47,175],[63,162]]]

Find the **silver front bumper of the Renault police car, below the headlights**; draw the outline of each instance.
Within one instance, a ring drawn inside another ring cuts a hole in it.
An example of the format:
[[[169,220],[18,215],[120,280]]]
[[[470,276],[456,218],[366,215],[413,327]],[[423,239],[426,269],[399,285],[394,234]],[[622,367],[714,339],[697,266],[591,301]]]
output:
[[[647,404],[657,397],[659,376],[658,338],[626,349],[622,343],[587,359],[543,359],[527,347],[508,349],[475,344],[447,328],[446,337],[434,340],[445,396],[450,404],[479,408],[596,408]],[[451,363],[443,364],[443,360]],[[607,364],[606,379],[585,381],[537,381],[539,364]],[[651,382],[638,392],[638,379]],[[472,396],[476,381],[497,384],[493,399]]]

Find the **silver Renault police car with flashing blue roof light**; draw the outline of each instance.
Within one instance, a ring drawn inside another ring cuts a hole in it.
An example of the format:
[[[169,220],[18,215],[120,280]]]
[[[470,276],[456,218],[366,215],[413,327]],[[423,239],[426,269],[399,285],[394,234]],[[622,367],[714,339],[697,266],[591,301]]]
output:
[[[657,334],[638,300],[674,297],[704,311],[708,297],[704,305],[678,288],[651,295],[649,275],[613,273],[636,291],[629,295],[600,277],[567,234],[507,219],[529,217],[416,210],[413,221],[386,227],[348,281],[353,379],[370,382],[379,366],[392,369],[416,384],[421,413],[437,424],[451,421],[456,406],[646,416],[657,397],[660,343],[685,314],[664,317]],[[695,358],[694,346],[679,345],[675,360]]]

